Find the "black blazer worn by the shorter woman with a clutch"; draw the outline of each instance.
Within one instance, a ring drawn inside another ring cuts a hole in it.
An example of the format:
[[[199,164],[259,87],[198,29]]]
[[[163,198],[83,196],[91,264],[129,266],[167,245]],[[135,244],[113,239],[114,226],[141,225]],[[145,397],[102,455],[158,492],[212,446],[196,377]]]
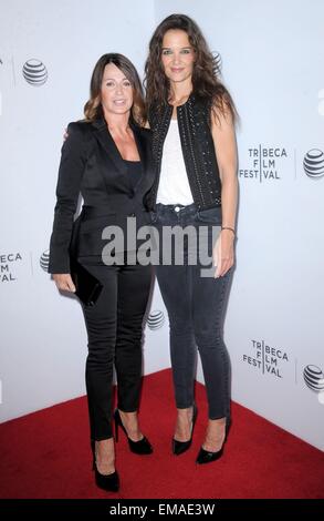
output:
[[[49,273],[70,273],[71,243],[79,256],[101,257],[105,226],[126,229],[127,216],[136,217],[137,228],[149,224],[155,181],[151,134],[135,124],[132,129],[143,166],[135,188],[104,119],[69,124],[59,170]],[[74,221],[80,194],[83,208]]]

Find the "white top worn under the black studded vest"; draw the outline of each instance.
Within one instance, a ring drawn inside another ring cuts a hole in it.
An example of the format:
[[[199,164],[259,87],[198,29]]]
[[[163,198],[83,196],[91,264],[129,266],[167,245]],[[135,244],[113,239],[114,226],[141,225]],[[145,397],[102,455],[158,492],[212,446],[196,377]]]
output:
[[[156,202],[184,205],[194,203],[182,155],[178,120],[170,121],[164,143]]]

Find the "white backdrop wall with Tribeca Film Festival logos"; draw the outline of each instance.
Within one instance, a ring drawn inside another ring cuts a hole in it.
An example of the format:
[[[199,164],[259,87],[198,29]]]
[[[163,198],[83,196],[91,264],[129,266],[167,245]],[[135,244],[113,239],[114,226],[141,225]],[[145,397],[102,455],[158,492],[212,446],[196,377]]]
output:
[[[241,116],[238,260],[226,321],[233,399],[324,450],[324,3],[122,0],[116,8],[97,0],[95,7],[1,1],[1,420],[85,391],[81,308],[58,294],[41,267],[62,132],[82,116],[101,54],[123,52],[142,72],[156,23],[184,12],[220,53]],[[46,80],[39,86],[29,75],[34,65]],[[146,374],[169,366],[164,318],[156,287]]]

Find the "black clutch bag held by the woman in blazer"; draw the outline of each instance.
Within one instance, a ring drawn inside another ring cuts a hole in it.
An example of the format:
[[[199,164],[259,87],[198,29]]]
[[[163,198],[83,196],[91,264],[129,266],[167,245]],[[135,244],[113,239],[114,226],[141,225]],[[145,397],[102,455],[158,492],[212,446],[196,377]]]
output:
[[[71,277],[76,288],[75,295],[85,306],[94,306],[103,285],[75,258],[70,258]]]

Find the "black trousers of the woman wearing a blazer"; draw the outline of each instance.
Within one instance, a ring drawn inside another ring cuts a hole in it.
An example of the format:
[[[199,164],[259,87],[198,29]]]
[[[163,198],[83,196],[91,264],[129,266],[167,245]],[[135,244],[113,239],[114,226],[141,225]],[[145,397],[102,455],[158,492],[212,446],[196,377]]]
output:
[[[142,382],[142,334],[151,267],[91,265],[102,284],[93,307],[83,306],[88,337],[86,390],[92,440],[112,438],[113,367],[117,376],[117,407],[136,411]]]

